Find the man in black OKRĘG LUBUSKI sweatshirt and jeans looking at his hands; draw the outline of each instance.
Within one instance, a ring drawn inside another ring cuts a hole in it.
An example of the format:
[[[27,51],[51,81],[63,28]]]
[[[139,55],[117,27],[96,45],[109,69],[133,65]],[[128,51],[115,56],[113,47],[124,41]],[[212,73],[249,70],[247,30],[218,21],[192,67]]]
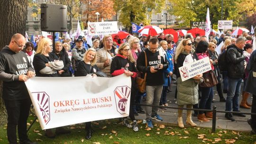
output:
[[[145,74],[146,72],[146,104],[158,106],[161,98],[164,83],[164,71],[168,68],[168,61],[159,55],[158,39],[149,40],[149,48],[141,52],[137,58],[137,69]],[[147,66],[145,64],[145,53]],[[152,119],[162,121],[163,118],[157,115],[157,107],[146,107],[147,126],[153,128]]]

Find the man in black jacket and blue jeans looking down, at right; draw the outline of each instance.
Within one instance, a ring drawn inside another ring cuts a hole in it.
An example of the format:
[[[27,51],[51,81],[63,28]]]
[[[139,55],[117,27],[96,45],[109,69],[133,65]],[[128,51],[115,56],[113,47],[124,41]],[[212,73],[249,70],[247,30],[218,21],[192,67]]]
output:
[[[240,94],[240,87],[242,78],[245,72],[245,56],[243,55],[243,48],[246,43],[245,37],[238,37],[235,45],[227,47],[227,62],[228,62],[228,81],[229,91],[226,100],[226,111],[239,111],[238,96]],[[232,106],[233,104],[233,106]],[[244,114],[234,114],[240,117],[246,117]],[[226,113],[226,118],[235,121],[231,113]]]

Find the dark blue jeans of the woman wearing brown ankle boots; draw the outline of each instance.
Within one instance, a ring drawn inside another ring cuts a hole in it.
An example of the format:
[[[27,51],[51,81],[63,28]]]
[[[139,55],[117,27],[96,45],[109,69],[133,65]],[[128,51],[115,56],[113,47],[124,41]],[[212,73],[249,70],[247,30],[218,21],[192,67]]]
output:
[[[211,109],[211,101],[213,99],[213,88],[201,87],[201,99],[199,102],[199,108],[201,109]],[[199,111],[199,114],[203,114],[203,111]]]

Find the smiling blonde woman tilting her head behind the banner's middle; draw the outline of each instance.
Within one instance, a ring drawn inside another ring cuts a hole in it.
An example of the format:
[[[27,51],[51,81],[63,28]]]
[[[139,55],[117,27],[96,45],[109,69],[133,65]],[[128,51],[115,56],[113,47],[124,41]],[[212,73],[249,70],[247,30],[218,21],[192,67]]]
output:
[[[99,69],[96,65],[96,50],[94,48],[89,48],[84,56],[83,61],[79,62],[77,67],[77,75],[76,76],[92,76],[95,77],[96,72]],[[85,123],[85,128],[87,130],[86,139],[91,138],[91,122]]]

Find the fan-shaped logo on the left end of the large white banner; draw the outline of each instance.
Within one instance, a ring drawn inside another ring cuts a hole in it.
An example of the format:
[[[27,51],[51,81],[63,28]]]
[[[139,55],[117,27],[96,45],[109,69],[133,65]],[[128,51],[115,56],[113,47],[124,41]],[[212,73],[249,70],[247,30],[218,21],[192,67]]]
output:
[[[36,95],[37,105],[40,109],[39,115],[44,118],[44,122],[47,125],[50,121],[50,98],[46,92],[32,92],[32,95]]]

